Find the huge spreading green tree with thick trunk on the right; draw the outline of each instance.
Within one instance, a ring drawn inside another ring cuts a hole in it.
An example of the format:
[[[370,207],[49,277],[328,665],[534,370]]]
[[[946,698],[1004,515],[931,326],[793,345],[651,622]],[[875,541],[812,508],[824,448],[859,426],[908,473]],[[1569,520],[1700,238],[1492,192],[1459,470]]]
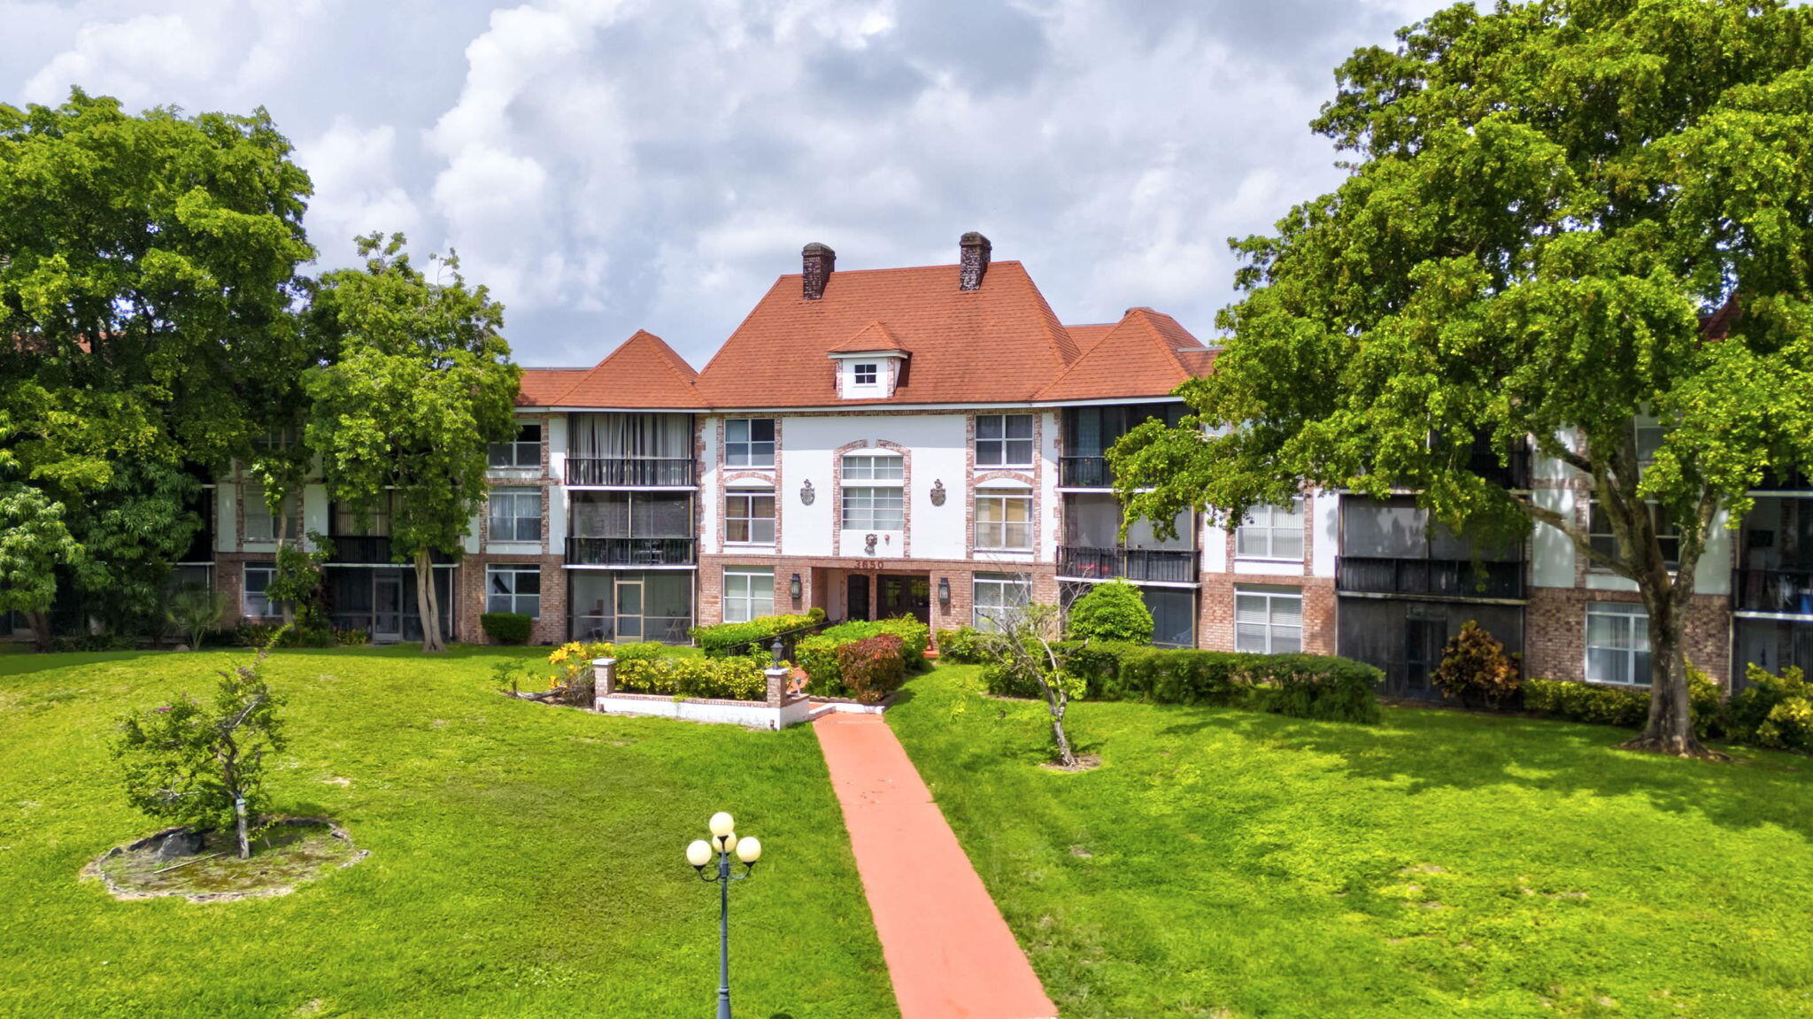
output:
[[[1182,388],[1195,417],[1115,450],[1120,493],[1226,526],[1304,484],[1403,486],[1463,531],[1554,528],[1648,609],[1630,745],[1699,754],[1681,635],[1708,533],[1813,464],[1813,13],[1459,4],[1398,40],[1338,69],[1313,127],[1347,178],[1235,243],[1226,352]],[[1615,551],[1470,468],[1525,441],[1590,488]]]

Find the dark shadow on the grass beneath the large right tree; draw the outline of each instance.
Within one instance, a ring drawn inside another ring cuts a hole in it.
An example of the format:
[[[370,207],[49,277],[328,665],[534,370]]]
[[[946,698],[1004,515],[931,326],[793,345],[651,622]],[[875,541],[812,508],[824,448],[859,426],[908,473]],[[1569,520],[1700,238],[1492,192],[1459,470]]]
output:
[[[1142,705],[1164,736],[1218,731],[1340,758],[1362,780],[1416,796],[1521,785],[1559,794],[1644,796],[1655,807],[1742,830],[1777,825],[1813,841],[1813,760],[1730,749],[1730,763],[1621,751],[1630,731],[1536,718],[1387,707],[1380,725],[1307,722],[1236,709]]]

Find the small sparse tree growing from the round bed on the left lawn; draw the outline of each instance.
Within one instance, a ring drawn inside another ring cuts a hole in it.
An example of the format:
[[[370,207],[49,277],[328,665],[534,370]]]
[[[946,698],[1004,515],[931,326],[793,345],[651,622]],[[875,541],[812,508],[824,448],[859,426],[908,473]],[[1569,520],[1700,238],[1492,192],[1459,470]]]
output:
[[[252,856],[247,818],[267,807],[265,756],[285,747],[283,700],[265,684],[265,658],[281,636],[274,633],[252,662],[221,669],[214,704],[181,694],[127,714],[114,742],[132,807],[196,830],[234,825],[239,859]]]

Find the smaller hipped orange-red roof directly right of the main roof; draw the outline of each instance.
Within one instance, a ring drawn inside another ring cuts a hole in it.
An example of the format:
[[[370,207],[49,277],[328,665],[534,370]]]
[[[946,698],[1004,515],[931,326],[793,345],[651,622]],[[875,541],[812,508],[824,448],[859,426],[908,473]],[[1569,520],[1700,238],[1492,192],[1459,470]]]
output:
[[[1162,397],[1184,379],[1206,375],[1215,352],[1177,325],[1171,315],[1151,308],[1128,308],[1113,326],[1071,326],[1071,335],[1093,335],[1082,352],[1039,399]]]

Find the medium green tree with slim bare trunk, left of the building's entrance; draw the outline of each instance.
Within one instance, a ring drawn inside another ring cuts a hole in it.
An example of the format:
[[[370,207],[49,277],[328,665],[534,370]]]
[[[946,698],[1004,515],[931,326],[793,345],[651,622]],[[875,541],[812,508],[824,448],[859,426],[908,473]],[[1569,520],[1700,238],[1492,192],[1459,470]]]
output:
[[[402,234],[359,238],[364,268],[321,277],[312,325],[339,354],[312,370],[308,446],[328,491],[370,520],[392,504],[390,539],[415,564],[422,651],[441,651],[431,557],[459,557],[484,504],[486,448],[515,435],[517,383],[504,306],[468,286],[453,254],[435,277]]]

